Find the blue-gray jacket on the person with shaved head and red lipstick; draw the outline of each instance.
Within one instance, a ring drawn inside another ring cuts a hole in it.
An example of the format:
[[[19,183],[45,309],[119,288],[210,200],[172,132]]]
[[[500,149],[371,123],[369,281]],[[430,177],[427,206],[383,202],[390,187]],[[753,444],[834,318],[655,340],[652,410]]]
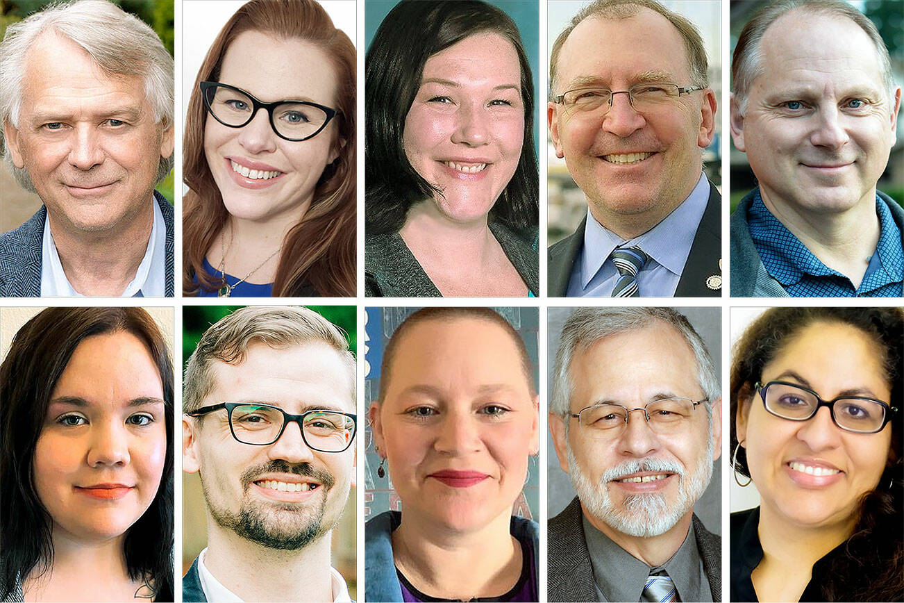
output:
[[[400,523],[401,513],[387,511],[364,525],[365,601],[390,603],[402,600],[399,576],[392,557],[392,529]],[[523,517],[513,517],[509,531],[518,542],[532,542],[534,567],[540,567],[540,525]]]

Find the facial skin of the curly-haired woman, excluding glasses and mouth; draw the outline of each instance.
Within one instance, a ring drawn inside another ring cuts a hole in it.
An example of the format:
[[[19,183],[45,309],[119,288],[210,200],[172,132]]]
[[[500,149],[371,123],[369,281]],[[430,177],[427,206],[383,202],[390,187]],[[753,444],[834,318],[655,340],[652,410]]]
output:
[[[888,402],[890,384],[878,359],[875,344],[858,329],[816,323],[764,367],[762,380],[800,383],[824,400],[850,394]],[[891,426],[876,434],[856,434],[836,427],[827,408],[798,422],[769,414],[758,395],[739,402],[738,438],[747,449],[762,513],[798,529],[849,530],[860,497],[876,487],[889,460]],[[829,484],[807,485],[788,466],[792,460],[842,474]],[[762,525],[761,520],[761,530]]]

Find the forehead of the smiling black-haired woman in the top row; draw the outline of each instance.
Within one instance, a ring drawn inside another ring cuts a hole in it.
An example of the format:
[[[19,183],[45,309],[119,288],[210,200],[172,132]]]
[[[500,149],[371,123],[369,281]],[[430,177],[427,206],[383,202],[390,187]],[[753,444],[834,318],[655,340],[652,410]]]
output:
[[[479,85],[495,85],[501,80],[518,85],[521,63],[512,42],[500,33],[483,32],[430,55],[424,63],[423,78],[463,80]]]

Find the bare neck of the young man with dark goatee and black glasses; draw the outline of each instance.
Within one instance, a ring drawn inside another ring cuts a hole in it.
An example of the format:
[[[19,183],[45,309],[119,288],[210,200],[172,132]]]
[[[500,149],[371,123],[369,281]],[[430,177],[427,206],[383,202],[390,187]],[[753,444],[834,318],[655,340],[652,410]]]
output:
[[[207,518],[204,566],[245,601],[332,601],[330,536],[298,551],[269,549]]]

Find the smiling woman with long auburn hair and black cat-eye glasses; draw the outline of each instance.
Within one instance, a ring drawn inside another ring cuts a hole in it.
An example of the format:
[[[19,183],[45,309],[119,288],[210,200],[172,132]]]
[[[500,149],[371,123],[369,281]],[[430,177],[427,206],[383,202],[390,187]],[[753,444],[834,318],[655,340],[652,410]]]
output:
[[[354,46],[314,0],[232,15],[185,119],[184,295],[354,296],[354,108]]]

